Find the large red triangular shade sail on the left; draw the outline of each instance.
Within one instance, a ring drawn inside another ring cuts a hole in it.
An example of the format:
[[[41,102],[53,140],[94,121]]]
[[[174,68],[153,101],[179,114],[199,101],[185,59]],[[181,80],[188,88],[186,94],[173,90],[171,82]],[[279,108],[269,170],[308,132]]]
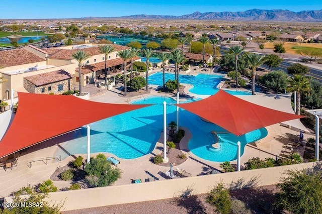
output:
[[[17,114],[0,141],[0,158],[81,126],[148,105],[93,102],[71,95],[18,93]]]

